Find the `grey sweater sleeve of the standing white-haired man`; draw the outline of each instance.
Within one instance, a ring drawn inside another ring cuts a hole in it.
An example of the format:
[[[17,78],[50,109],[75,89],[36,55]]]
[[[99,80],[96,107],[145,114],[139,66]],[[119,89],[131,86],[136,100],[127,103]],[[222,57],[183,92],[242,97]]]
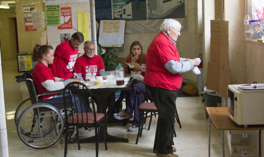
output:
[[[194,64],[192,61],[177,62],[175,60],[170,60],[166,62],[165,68],[173,74],[185,73],[192,70]]]

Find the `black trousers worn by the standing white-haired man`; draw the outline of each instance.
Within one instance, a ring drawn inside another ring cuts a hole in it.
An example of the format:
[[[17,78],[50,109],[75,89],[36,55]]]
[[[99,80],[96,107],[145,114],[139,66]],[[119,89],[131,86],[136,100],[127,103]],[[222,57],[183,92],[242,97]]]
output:
[[[158,109],[157,129],[154,141],[154,150],[160,154],[172,153],[174,119],[176,114],[176,98],[178,91],[164,88],[151,87],[146,84],[150,91],[153,103]]]

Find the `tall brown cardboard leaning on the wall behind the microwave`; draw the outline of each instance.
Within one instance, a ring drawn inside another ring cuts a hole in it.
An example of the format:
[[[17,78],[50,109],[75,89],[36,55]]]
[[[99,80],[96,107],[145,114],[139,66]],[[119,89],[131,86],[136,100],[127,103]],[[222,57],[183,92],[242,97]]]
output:
[[[228,53],[228,21],[211,20],[211,62],[208,62],[207,89],[227,98],[231,84]]]

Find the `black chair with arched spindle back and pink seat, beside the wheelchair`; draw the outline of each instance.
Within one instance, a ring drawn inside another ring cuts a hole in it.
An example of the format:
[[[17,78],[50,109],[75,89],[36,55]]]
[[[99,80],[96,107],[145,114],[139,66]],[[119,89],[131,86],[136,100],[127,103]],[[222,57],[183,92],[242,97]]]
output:
[[[74,86],[78,85],[78,87]],[[72,98],[71,104],[66,104],[65,98],[66,95],[69,95]],[[94,107],[94,100],[91,94],[90,89],[83,83],[72,82],[69,83],[63,90],[63,98],[64,98],[64,111],[65,111],[65,150],[64,156],[67,155],[67,135],[68,128],[70,126],[76,127],[77,131],[77,141],[78,141],[78,149],[80,150],[80,139],[79,139],[79,127],[94,127],[95,130],[95,149],[96,149],[96,157],[98,157],[99,150],[99,135],[98,132],[100,128],[106,127],[101,122],[105,118],[105,114],[96,113]],[[90,101],[89,101],[90,98]],[[78,104],[78,105],[77,105]],[[93,112],[87,112],[88,108],[92,105]],[[67,106],[70,106],[67,108]],[[103,129],[105,130],[105,129]],[[105,150],[107,150],[106,143],[106,133],[104,132],[104,144]]]

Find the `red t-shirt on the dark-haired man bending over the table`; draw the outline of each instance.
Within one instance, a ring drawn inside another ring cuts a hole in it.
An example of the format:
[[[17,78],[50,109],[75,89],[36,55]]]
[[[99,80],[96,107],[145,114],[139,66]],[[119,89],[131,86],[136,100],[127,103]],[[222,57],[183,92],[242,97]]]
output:
[[[56,47],[53,64],[49,65],[54,77],[68,79],[72,77],[72,71],[77,59],[77,50],[70,46],[70,41],[62,42]]]

